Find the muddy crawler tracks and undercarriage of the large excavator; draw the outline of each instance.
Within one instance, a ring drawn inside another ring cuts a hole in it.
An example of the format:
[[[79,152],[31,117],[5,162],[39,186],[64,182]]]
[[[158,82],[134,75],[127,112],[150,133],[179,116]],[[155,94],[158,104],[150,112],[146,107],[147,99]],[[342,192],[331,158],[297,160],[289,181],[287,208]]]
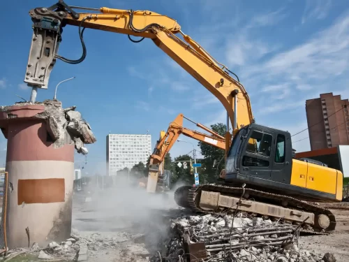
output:
[[[203,213],[251,213],[283,223],[295,224],[306,233],[329,233],[336,227],[329,210],[297,198],[252,188],[230,185],[202,184],[179,187],[174,200],[182,208]]]

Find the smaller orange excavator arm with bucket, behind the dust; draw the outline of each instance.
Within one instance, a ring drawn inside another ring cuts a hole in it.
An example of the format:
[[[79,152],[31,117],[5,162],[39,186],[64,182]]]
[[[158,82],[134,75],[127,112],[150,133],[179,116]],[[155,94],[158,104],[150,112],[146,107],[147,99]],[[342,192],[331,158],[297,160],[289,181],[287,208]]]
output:
[[[207,131],[211,135],[187,129],[183,126],[184,119],[187,119],[193,124],[196,124],[196,126]],[[170,122],[168,131],[160,132],[160,139],[157,141],[154,147],[153,154],[151,154],[147,182],[148,192],[152,192],[152,189],[154,187],[156,188],[156,192],[163,192],[168,190],[171,173],[170,170],[165,170],[163,161],[166,154],[170,152],[172,146],[174,145],[174,143],[176,143],[181,134],[187,136],[188,138],[193,138],[208,145],[213,145],[214,147],[221,148],[221,150],[225,150],[225,138],[223,136],[220,136],[218,133],[207,128],[207,126],[204,126],[203,124],[193,122],[193,120],[185,117],[183,114],[177,115],[177,117],[172,122]]]

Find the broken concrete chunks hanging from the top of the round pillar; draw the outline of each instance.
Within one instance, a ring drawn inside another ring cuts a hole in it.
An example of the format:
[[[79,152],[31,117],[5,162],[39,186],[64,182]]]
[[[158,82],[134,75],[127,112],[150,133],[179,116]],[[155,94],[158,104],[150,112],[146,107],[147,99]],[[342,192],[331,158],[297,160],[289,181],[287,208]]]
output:
[[[14,105],[31,105],[27,102],[17,102]],[[91,126],[82,118],[80,112],[75,110],[75,106],[62,108],[61,102],[56,100],[45,100],[43,103],[36,102],[35,105],[44,105],[44,112],[34,115],[34,118],[45,119],[47,123],[47,133],[53,141],[55,148],[66,144],[75,145],[75,149],[80,154],[87,154],[88,150],[84,144],[96,142]],[[0,106],[0,112],[6,112],[9,106]]]

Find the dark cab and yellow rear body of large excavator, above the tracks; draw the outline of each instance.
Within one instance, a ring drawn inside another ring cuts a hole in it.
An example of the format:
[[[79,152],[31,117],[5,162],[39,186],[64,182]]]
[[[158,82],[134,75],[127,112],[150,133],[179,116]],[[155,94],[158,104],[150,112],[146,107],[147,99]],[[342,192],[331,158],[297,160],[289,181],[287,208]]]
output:
[[[275,194],[287,192],[305,201],[342,198],[339,170],[294,159],[289,132],[255,123],[244,126],[233,138],[225,172],[225,183],[239,187],[246,184]]]

